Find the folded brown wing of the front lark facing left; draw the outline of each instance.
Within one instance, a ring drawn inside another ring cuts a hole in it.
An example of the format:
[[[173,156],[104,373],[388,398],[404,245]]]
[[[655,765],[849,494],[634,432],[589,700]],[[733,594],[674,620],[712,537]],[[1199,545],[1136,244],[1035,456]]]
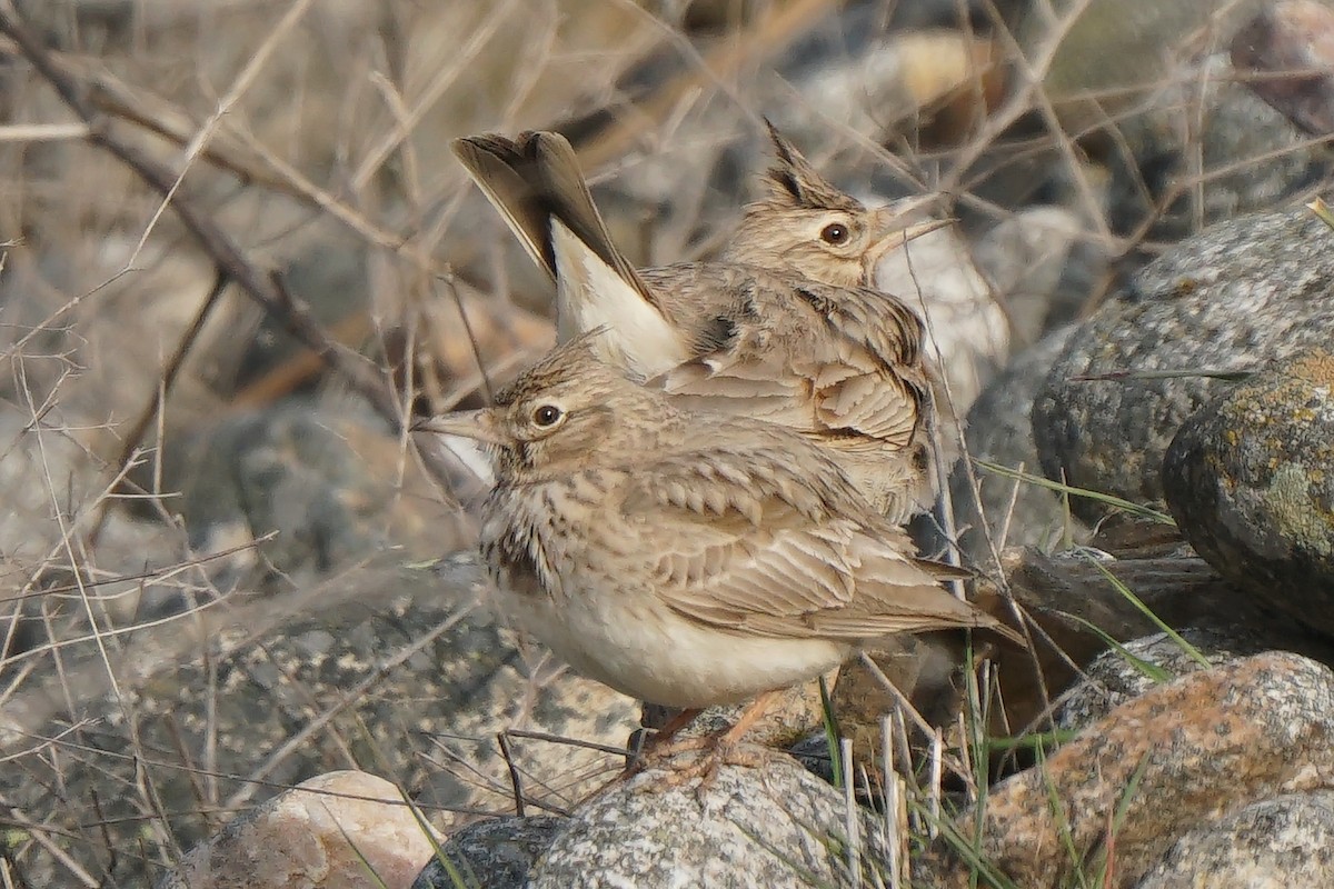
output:
[[[663,460],[622,509],[646,529],[654,592],[703,624],[850,642],[995,625],[946,592],[832,464],[791,448]]]

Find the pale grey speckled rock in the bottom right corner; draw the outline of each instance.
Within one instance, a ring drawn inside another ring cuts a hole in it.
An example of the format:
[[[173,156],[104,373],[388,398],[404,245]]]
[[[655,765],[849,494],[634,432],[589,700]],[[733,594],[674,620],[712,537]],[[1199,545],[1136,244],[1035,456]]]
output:
[[[1334,885],[1334,793],[1287,793],[1191,830],[1135,889]]]

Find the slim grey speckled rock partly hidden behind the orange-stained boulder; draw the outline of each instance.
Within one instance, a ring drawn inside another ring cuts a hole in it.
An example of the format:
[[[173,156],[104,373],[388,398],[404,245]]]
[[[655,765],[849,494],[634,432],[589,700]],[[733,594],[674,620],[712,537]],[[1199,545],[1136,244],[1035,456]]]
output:
[[[1179,634],[1214,666],[1266,650],[1259,634],[1243,629],[1183,629]],[[1133,657],[1165,670],[1169,680],[1205,669],[1167,633],[1130,640],[1123,646]],[[1099,654],[1085,668],[1085,677],[1057,702],[1057,728],[1083,729],[1159,684],[1118,650]]]

